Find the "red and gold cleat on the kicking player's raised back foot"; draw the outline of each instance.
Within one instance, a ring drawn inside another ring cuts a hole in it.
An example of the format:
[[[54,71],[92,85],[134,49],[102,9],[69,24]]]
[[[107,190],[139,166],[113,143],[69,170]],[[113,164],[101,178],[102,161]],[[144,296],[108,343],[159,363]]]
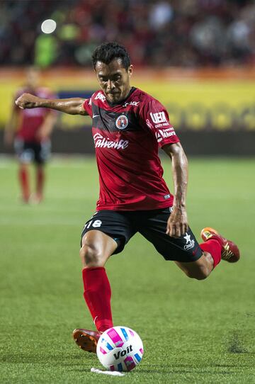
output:
[[[226,260],[229,263],[236,263],[240,259],[240,252],[237,247],[237,244],[231,242],[230,240],[225,239],[220,233],[210,227],[203,228],[201,230],[201,237],[204,242],[209,239],[218,239],[222,244],[222,260]]]

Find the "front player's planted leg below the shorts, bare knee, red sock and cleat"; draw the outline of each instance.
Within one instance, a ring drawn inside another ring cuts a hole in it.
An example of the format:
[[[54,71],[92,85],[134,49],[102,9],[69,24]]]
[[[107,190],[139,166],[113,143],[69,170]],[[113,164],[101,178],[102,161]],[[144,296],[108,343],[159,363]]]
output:
[[[98,230],[86,232],[81,240],[84,299],[98,329],[98,332],[74,329],[74,341],[84,351],[96,353],[96,344],[101,332],[113,327],[111,286],[104,265],[117,246],[115,240]]]

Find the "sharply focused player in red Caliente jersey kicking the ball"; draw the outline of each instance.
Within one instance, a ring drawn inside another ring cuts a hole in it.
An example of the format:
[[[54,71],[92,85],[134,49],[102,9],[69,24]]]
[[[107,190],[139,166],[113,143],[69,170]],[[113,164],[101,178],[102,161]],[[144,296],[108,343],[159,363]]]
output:
[[[130,86],[133,67],[125,47],[103,43],[92,60],[101,89],[91,98],[44,100],[23,94],[16,104],[92,118],[100,193],[96,213],[81,234],[80,256],[84,298],[97,331],[74,329],[73,336],[81,349],[95,352],[101,332],[113,327],[106,261],[136,232],[198,280],[207,278],[221,259],[238,261],[239,249],[210,227],[202,230],[203,243],[198,244],[188,227],[186,155],[164,106]],[[171,159],[174,195],[162,178],[158,148]]]

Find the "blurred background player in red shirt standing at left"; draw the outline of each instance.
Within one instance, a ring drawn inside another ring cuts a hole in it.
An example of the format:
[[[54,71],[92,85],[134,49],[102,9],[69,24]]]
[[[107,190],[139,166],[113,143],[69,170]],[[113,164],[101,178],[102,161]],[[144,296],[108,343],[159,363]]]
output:
[[[52,98],[51,92],[39,86],[40,72],[30,67],[26,72],[26,84],[18,90],[16,97],[24,92],[42,98]],[[18,156],[18,179],[21,185],[21,196],[24,203],[32,200],[40,203],[43,198],[45,182],[44,164],[50,154],[50,133],[56,119],[56,112],[50,109],[35,110],[21,109],[13,104],[10,119],[6,125],[4,140],[6,145],[12,145]],[[36,183],[35,193],[30,196],[29,164],[35,163]],[[30,199],[32,197],[32,199]]]

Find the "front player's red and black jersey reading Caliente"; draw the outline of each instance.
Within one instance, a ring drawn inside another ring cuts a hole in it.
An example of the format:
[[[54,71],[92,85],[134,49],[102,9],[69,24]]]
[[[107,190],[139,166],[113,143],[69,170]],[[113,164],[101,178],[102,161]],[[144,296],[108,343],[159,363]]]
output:
[[[132,88],[111,105],[103,91],[84,102],[92,118],[99,171],[97,210],[152,210],[172,205],[158,148],[179,142],[164,106]]]

